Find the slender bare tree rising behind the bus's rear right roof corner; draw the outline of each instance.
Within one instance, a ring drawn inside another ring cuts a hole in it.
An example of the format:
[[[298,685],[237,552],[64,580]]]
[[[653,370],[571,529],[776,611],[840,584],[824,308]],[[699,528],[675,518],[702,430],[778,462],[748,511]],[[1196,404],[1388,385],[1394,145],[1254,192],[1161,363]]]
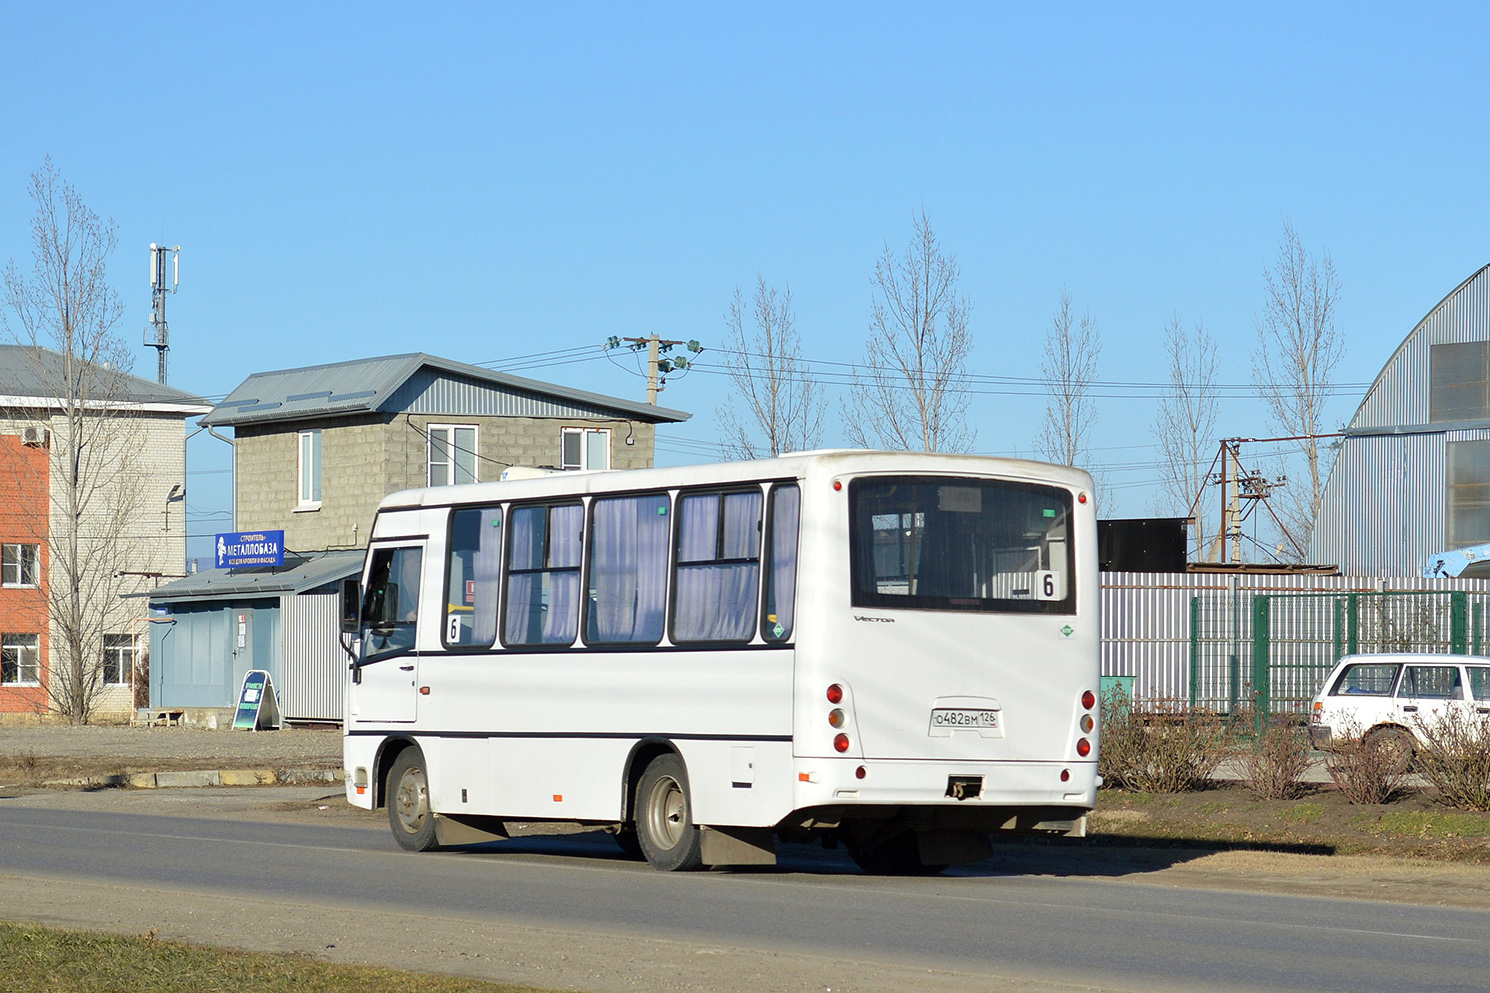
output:
[[[1049,394],[1044,404],[1044,420],[1036,450],[1042,458],[1061,465],[1074,465],[1092,473],[1097,480],[1100,502],[1106,502],[1107,486],[1092,462],[1088,444],[1092,425],[1097,423],[1097,404],[1091,398],[1092,382],[1097,379],[1097,358],[1103,343],[1097,319],[1091,312],[1077,318],[1071,310],[1071,294],[1061,291],[1061,304],[1055,309],[1050,328],[1044,334],[1044,358],[1040,374]]]

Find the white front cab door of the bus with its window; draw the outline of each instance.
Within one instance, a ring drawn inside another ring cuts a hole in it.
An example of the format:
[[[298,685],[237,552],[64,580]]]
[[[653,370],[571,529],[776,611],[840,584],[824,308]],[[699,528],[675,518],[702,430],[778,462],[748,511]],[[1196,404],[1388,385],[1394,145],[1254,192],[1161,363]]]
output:
[[[419,546],[372,550],[362,596],[362,647],[352,683],[352,717],[411,723],[419,701]]]

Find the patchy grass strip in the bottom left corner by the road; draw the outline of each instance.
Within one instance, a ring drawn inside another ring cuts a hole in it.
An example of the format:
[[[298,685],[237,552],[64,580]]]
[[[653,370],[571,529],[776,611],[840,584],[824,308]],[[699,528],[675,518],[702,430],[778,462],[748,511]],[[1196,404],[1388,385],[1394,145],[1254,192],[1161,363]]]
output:
[[[480,980],[343,966],[140,936],[0,923],[7,993],[533,993]]]

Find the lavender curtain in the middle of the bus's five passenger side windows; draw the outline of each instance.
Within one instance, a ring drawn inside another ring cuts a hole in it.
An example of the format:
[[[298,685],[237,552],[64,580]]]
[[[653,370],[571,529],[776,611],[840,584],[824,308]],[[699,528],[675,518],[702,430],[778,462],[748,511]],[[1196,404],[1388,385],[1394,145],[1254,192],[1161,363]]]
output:
[[[668,602],[668,495],[596,499],[593,513],[586,641],[657,644]]]

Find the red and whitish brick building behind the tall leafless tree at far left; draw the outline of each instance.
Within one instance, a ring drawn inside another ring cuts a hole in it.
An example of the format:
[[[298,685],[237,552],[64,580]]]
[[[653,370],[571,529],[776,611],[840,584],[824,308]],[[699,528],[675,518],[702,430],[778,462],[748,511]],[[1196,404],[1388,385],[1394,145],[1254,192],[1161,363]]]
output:
[[[106,367],[74,367],[74,379],[89,385],[83,392],[92,406],[85,412],[109,409],[98,420],[83,414],[82,458],[92,461],[94,474],[76,531],[82,587],[95,598],[85,607],[86,641],[97,647],[85,661],[97,683],[91,711],[119,719],[133,711],[136,662],[146,641],[143,602],[121,596],[183,571],[186,419],[212,404]],[[66,376],[58,353],[0,346],[0,719],[48,711],[49,687],[57,686],[49,543],[72,534],[58,485],[67,461],[67,419],[54,386],[60,382]],[[107,395],[92,398],[94,391]],[[124,468],[110,471],[112,459]]]

